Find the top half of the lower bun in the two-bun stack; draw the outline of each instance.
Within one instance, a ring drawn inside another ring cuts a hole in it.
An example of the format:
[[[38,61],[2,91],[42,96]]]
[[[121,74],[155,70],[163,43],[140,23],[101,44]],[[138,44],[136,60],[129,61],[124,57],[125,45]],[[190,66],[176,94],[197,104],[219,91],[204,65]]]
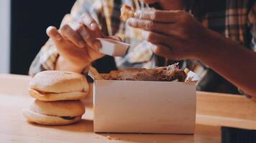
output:
[[[29,109],[38,114],[45,114],[58,117],[78,117],[85,112],[85,107],[80,100],[76,101],[58,101],[42,102],[35,100]]]

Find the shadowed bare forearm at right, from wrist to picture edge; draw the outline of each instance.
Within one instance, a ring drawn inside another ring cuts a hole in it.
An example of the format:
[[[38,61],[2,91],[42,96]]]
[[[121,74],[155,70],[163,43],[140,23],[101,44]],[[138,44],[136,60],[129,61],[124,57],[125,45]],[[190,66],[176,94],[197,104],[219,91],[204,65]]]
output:
[[[210,41],[199,57],[224,78],[235,84],[243,92],[256,97],[256,54],[246,47],[211,31]]]

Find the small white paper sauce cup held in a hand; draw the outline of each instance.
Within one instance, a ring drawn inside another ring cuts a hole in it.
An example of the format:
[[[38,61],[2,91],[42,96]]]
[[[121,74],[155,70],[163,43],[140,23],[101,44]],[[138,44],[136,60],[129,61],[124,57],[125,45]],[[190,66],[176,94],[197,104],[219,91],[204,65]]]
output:
[[[109,56],[124,56],[129,47],[129,44],[124,43],[122,41],[116,41],[112,39],[100,39],[100,38],[99,38],[99,41],[101,41],[101,45],[102,45],[99,51]]]

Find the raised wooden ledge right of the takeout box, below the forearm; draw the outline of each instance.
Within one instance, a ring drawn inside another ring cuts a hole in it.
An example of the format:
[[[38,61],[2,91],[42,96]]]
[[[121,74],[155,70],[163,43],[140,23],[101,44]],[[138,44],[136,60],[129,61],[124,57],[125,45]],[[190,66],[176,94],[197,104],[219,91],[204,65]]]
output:
[[[256,102],[241,95],[197,92],[196,123],[256,129]]]

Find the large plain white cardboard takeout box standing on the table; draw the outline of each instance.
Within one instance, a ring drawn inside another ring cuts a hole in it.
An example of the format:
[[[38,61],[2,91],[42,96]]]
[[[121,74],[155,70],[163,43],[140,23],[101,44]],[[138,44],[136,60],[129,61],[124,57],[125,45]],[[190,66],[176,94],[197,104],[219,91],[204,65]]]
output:
[[[196,82],[94,80],[93,114],[94,132],[193,134]]]

